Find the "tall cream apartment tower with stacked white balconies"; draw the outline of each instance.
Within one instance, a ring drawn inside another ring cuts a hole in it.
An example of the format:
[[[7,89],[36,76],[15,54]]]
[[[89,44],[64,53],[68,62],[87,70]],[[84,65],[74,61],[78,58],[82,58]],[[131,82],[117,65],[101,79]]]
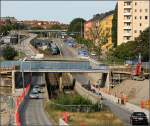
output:
[[[117,45],[135,40],[150,26],[149,0],[118,0]]]

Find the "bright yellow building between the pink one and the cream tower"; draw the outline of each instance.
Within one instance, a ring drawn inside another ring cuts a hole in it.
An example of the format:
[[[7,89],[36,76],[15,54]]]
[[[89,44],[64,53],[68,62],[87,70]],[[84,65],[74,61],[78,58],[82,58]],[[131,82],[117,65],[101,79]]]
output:
[[[99,21],[100,37],[104,39],[102,54],[105,54],[110,48],[112,48],[112,19],[113,14],[110,14]]]

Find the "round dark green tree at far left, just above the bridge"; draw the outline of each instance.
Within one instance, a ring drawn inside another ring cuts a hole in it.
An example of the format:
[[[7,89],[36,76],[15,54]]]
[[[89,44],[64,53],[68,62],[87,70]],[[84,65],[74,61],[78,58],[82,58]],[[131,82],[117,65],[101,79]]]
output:
[[[17,52],[14,48],[6,46],[3,49],[3,57],[5,60],[13,60],[15,56],[17,56]]]

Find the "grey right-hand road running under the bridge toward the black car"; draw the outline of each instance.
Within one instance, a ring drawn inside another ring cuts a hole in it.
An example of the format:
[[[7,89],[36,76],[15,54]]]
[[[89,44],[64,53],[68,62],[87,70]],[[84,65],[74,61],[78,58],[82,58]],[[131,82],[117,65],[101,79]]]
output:
[[[57,42],[58,46],[61,48],[62,53],[64,57],[78,57],[77,56],[77,50],[68,47],[66,44],[63,44],[61,40],[54,40]],[[79,82],[87,84],[89,78],[85,74],[74,74],[73,75]],[[120,119],[123,121],[124,125],[130,126],[129,118],[132,112],[124,109],[121,105],[112,103],[111,101],[108,101],[107,99],[103,100],[103,104],[107,105],[111,111]]]

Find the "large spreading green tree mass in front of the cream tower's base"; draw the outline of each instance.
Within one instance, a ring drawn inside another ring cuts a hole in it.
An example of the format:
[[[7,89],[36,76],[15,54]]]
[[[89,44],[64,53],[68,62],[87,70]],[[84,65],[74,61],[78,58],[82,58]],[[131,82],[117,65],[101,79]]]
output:
[[[109,57],[120,60],[135,60],[139,53],[142,55],[143,61],[149,60],[149,32],[150,27],[146,28],[135,41],[129,41],[117,46],[108,54]]]

